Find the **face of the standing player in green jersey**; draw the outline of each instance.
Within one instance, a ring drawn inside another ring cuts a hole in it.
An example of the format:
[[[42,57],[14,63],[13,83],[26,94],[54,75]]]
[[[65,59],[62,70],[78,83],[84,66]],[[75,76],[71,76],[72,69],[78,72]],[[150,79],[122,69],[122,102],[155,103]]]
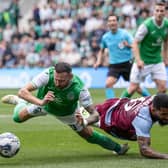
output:
[[[165,6],[161,6],[161,5],[156,5],[155,6],[155,11],[154,11],[154,16],[156,19],[156,22],[162,22],[163,17],[165,16]]]

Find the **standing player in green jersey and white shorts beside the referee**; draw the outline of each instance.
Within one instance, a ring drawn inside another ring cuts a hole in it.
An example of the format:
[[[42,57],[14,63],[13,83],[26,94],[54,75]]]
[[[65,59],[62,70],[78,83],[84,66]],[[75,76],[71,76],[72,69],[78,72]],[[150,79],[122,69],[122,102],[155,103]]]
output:
[[[154,16],[138,28],[132,45],[135,63],[131,69],[130,86],[121,97],[131,97],[148,74],[158,93],[166,92],[167,74],[163,61],[168,61],[168,19],[165,13],[165,3],[156,3]]]

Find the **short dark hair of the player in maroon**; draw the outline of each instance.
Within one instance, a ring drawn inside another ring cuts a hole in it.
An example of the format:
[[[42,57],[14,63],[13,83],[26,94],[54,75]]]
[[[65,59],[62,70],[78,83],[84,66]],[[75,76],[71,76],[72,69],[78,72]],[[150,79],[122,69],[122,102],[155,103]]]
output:
[[[165,93],[157,94],[153,99],[153,107],[160,110],[160,108],[168,108],[168,95]]]

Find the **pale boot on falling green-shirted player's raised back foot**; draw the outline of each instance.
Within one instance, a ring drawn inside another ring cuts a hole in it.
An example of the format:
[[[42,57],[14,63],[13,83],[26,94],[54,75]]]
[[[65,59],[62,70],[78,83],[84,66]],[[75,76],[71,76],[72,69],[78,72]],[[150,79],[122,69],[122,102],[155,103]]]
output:
[[[19,97],[16,95],[6,95],[1,98],[1,101],[2,101],[2,103],[16,105],[19,102]]]

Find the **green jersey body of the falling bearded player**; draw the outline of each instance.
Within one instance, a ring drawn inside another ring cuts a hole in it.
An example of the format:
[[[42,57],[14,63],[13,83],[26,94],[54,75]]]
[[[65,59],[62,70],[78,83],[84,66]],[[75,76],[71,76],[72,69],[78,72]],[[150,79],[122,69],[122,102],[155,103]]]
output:
[[[46,86],[38,89],[37,97],[43,99],[48,91],[52,91],[55,100],[44,106],[44,109],[56,116],[66,116],[74,113],[84,83],[79,77],[73,75],[71,83],[64,89],[59,89],[54,84],[54,68],[49,69],[49,81]]]

